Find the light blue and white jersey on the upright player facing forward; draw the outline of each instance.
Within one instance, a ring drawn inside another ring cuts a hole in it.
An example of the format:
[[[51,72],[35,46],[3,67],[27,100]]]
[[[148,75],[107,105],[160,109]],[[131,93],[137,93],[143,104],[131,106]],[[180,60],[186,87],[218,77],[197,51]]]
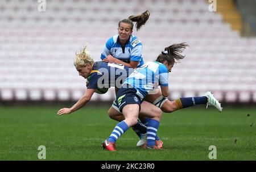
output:
[[[118,41],[118,36],[119,35],[115,35],[106,41],[101,53],[101,59],[103,60],[108,55],[112,55],[113,57],[128,63],[130,63],[130,61],[138,61],[139,64],[137,68],[142,66],[144,64],[142,58],[142,43],[138,37],[131,35],[130,39],[127,40],[127,43],[125,44],[123,52],[122,46]]]

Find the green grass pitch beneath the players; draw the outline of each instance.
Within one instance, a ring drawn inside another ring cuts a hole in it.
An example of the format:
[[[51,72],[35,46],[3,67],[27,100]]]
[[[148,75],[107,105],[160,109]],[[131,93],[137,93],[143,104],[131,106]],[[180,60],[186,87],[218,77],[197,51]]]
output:
[[[0,160],[39,160],[40,145],[46,146],[46,160],[209,160],[210,145],[217,148],[216,160],[256,160],[255,108],[220,113],[200,106],[163,114],[163,150],[137,148],[138,136],[129,129],[117,152],[101,147],[117,124],[108,107],[57,116],[59,108],[0,107]]]

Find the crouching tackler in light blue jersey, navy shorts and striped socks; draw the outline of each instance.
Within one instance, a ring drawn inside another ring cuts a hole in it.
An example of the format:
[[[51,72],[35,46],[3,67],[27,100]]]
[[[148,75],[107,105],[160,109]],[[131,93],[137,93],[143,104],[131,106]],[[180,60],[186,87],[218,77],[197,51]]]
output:
[[[154,90],[158,83],[162,88],[162,95],[168,97],[168,73],[171,72],[173,65],[174,59],[161,56],[158,61],[147,62],[129,75],[118,90],[117,98],[111,107],[118,112],[122,112],[124,119],[114,127],[109,138],[102,142],[104,149],[115,151],[115,142],[127,129],[137,123],[139,115],[141,118],[148,119],[147,141],[144,148],[162,149],[155,142],[156,132],[162,118],[162,110],[143,99],[151,90]]]

